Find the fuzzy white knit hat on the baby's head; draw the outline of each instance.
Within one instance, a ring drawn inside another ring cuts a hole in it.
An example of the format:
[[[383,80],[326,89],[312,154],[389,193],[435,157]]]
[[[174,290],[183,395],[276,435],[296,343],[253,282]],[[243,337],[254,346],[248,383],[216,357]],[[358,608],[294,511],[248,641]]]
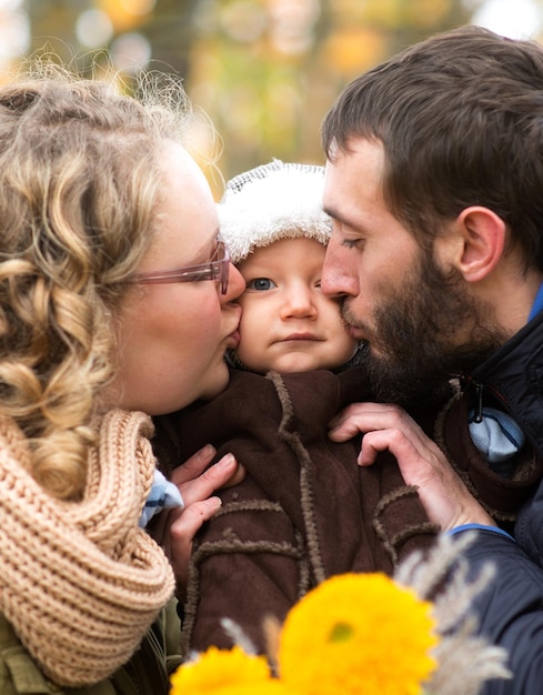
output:
[[[315,239],[325,245],[332,220],[322,210],[323,187],[323,167],[276,159],[231,179],[218,212],[232,261],[280,239]]]

